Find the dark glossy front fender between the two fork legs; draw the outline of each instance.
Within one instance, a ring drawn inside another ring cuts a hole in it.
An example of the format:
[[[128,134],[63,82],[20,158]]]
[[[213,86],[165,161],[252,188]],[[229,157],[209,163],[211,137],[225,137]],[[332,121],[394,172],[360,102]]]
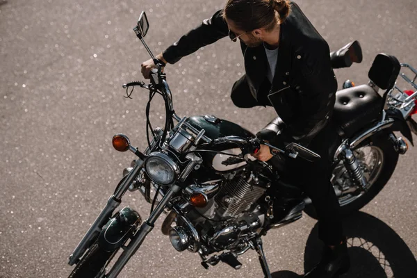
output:
[[[127,206],[122,208],[101,230],[99,247],[107,252],[117,250],[136,231],[141,222],[139,213]]]

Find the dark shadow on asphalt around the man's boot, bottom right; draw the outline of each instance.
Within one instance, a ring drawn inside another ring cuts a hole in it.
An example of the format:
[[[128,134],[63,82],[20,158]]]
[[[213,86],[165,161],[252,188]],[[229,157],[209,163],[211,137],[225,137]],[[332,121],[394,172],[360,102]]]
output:
[[[352,261],[350,270],[341,278],[411,278],[416,277],[417,261],[404,240],[381,220],[359,212],[343,220],[347,247]],[[318,224],[311,230],[304,251],[304,270],[320,260],[322,243]],[[302,277],[291,271],[272,273],[274,278]]]

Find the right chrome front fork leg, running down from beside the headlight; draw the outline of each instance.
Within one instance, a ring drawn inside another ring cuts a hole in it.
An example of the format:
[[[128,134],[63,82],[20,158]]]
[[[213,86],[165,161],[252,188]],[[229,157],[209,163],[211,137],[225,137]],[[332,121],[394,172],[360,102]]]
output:
[[[154,229],[154,223],[158,219],[159,215],[163,212],[167,204],[170,202],[172,195],[179,192],[181,188],[177,185],[173,185],[170,190],[165,194],[161,202],[159,202],[158,206],[156,206],[155,210],[149,215],[149,218],[145,220],[142,225],[140,226],[139,230],[136,232],[135,236],[133,236],[129,245],[124,248],[123,253],[117,259],[113,268],[111,268],[106,278],[115,278],[124,268],[124,265],[129,261],[131,256],[138,251],[140,245],[142,245],[143,241],[145,240],[147,234],[149,234],[152,229]]]

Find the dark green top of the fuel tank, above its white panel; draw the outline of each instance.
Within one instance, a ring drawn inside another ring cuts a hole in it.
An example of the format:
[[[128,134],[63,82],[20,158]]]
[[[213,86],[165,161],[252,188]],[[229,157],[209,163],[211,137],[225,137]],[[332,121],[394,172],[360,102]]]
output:
[[[186,122],[198,130],[204,129],[206,131],[204,135],[212,140],[224,136],[254,137],[252,132],[242,126],[213,115],[189,117]]]

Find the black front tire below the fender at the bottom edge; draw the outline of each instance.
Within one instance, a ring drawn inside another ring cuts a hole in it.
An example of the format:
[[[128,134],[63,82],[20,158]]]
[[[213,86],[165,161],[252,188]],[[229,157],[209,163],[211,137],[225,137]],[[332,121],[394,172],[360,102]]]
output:
[[[108,261],[113,258],[113,252],[101,250],[96,241],[83,256],[81,261],[76,264],[68,278],[98,278],[101,276]]]

